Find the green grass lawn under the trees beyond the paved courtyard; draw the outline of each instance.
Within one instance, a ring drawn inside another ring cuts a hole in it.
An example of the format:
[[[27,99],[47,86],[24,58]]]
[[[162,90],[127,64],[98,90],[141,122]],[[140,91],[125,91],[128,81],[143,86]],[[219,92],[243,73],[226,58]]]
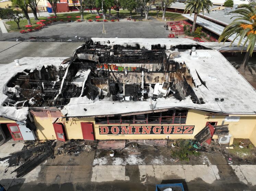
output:
[[[112,16],[108,17],[107,19],[112,19],[112,18],[116,18],[117,17],[117,12],[115,10],[111,10],[111,14]],[[50,14],[50,16],[53,16],[53,14]],[[66,18],[66,16],[71,16],[71,20],[75,21],[78,18],[76,18],[76,16],[81,16],[80,13],[61,13],[61,14],[57,14],[58,18],[57,20],[63,19],[63,20],[68,20],[68,18]],[[97,16],[97,14],[90,14],[90,12],[85,11],[84,12],[84,20],[88,20],[88,19],[96,19],[95,16]],[[108,12],[107,12],[107,16],[108,16]],[[154,17],[156,18],[156,11],[149,11],[149,17]],[[130,17],[130,12],[127,10],[120,10],[119,11],[119,17],[120,18],[128,18]],[[158,20],[161,21],[162,18],[162,13],[160,12],[158,14]],[[46,17],[38,17],[39,19],[45,19],[47,20]],[[140,12],[132,12],[132,18],[133,19],[145,19],[145,17],[141,17],[141,13]],[[172,20],[183,20],[185,19],[181,14],[178,13],[172,13],[172,12],[166,12],[166,18],[167,20],[170,20],[170,18],[172,18]],[[38,26],[36,24],[37,21],[34,20],[34,18],[30,18],[31,20],[31,24],[32,24],[32,28]],[[100,18],[99,20],[102,20],[102,18]],[[27,28],[25,27],[25,25],[27,25],[27,19],[23,19],[20,21],[20,29],[17,29],[17,24],[14,21],[7,21],[5,24],[7,31],[8,32],[17,32],[20,30],[26,30]]]

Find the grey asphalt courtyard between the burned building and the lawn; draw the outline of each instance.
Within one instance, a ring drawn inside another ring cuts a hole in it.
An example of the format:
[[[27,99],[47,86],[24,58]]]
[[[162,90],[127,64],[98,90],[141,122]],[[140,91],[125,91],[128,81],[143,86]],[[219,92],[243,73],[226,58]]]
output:
[[[20,34],[20,32],[1,33],[0,40],[8,40],[18,36],[28,38],[32,36],[83,36],[108,38],[167,38],[169,31],[156,19],[148,21],[119,21],[104,23],[106,34],[102,34],[103,23],[83,21],[81,23],[53,23],[51,26],[39,31]]]

